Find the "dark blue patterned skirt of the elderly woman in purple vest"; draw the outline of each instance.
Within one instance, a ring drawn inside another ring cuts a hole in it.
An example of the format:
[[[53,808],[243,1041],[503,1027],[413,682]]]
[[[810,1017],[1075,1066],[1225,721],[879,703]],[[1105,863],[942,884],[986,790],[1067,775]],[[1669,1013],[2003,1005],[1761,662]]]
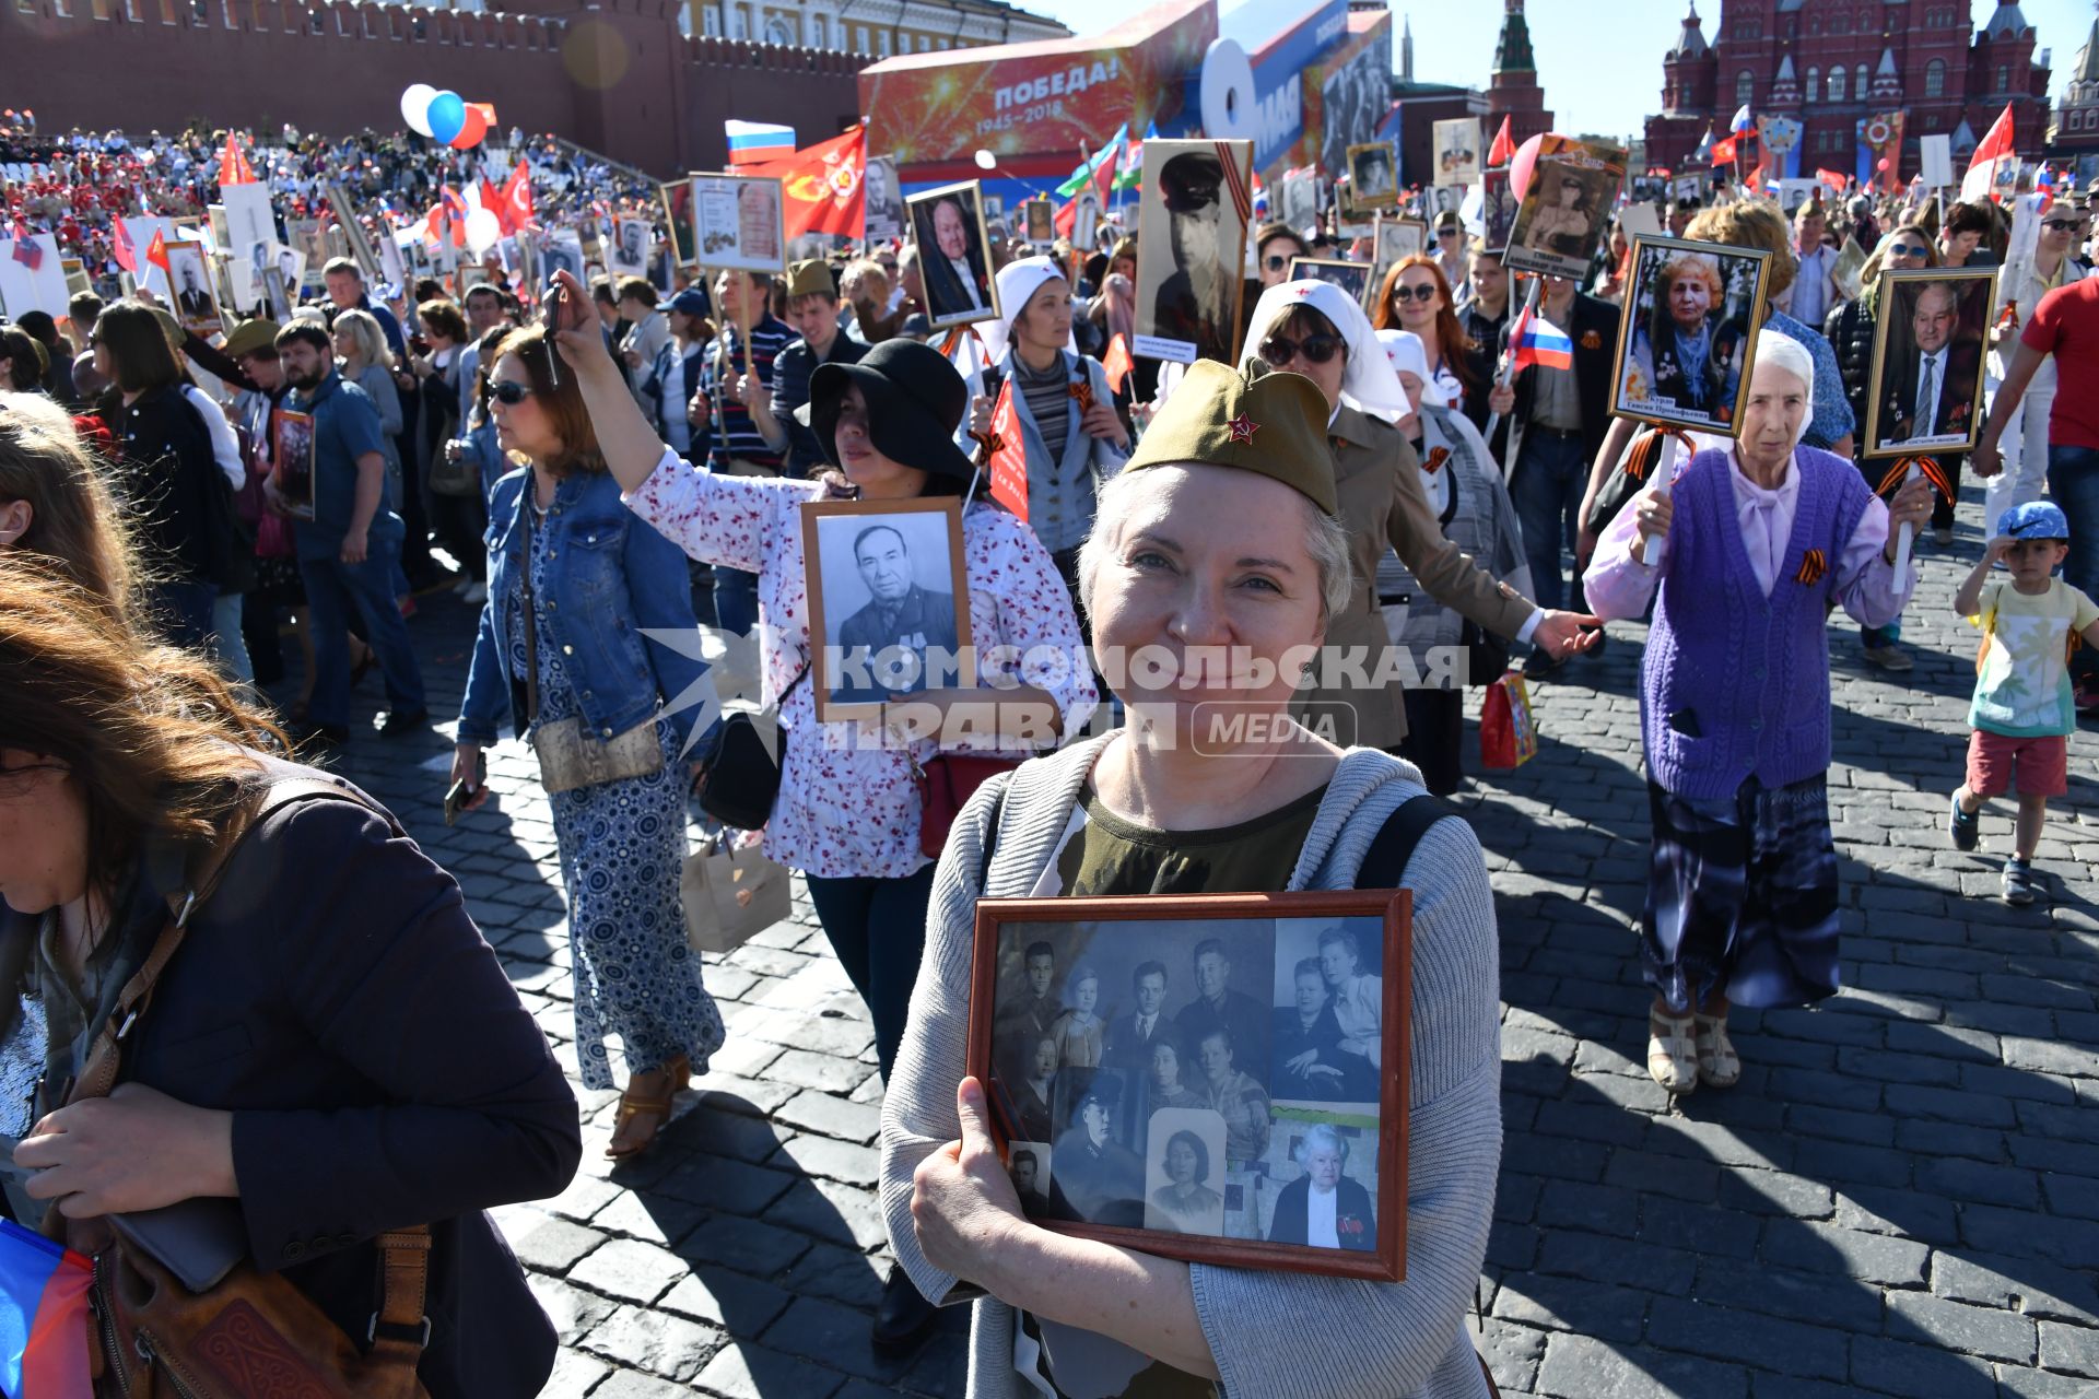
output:
[[[1757,778],[1732,799],[1648,780],[1654,852],[1639,961],[1679,1015],[1713,992],[1732,1005],[1809,1005],[1837,994],[1837,843],[1820,776]]]

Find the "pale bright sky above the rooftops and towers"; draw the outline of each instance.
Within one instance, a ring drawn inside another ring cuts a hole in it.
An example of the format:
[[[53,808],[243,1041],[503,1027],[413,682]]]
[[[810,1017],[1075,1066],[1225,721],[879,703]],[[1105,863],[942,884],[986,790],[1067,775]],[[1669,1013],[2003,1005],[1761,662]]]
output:
[[[1094,34],[1127,19],[1131,0],[1014,0],[1022,8],[1052,15],[1079,34]],[[1222,0],[1230,8],[1232,0]],[[1415,78],[1486,88],[1501,36],[1501,4],[1467,0],[1429,4],[1390,0],[1392,63],[1400,63],[1398,25],[1413,17]],[[2038,48],[2053,48],[2053,90],[2061,94],[2070,61],[2093,25],[2089,0],[2023,0],[2026,23],[2038,29]],[[1629,136],[1648,113],[1662,105],[1662,55],[1677,38],[1688,0],[1528,0],[1530,46],[1539,61],[1545,105],[1564,132]],[[1996,0],[1975,0],[1975,25],[1988,23]],[[1702,0],[1704,34],[1711,40],[1719,0]],[[1585,76],[1604,76],[1602,80]]]

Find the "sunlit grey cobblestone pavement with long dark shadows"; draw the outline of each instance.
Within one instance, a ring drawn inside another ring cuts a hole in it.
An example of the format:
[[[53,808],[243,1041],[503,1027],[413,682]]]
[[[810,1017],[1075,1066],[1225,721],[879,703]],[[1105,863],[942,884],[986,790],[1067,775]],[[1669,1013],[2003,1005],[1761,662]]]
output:
[[[2099,1393],[2095,738],[2072,740],[2042,900],[2009,908],[2009,808],[1984,816],[1977,854],[1944,833],[1975,650],[1950,598],[1977,547],[1965,529],[1950,556],[1921,550],[1912,675],[1864,667],[1856,627],[1835,623],[1845,990],[1814,1011],[1738,1013],[1734,1091],[1671,1103],[1644,1068],[1627,931],[1648,854],[1641,629],[1614,627],[1604,657],[1539,684],[1539,757],[1465,797],[1505,998],[1507,1137],[1476,1328],[1511,1399]],[[468,610],[426,600],[411,629],[434,711],[455,711]],[[1465,740],[1476,772],[1471,724]],[[447,831],[447,751],[439,734],[361,734],[340,768],[458,875],[573,1074],[531,757],[497,749],[500,810]],[[584,1095],[584,1172],[500,1217],[563,1334],[546,1393],[959,1395],[959,1311],[905,1361],[867,1344],[886,1271],[879,1082],[808,904],[709,959],[707,986],[728,1045],[661,1145],[609,1170],[615,1097]]]

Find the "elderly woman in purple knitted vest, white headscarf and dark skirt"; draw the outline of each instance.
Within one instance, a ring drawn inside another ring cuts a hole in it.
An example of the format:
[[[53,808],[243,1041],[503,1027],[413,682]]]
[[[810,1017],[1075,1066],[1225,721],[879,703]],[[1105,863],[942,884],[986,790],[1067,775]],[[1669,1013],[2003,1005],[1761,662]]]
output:
[[[1883,505],[1851,461],[1801,447],[1811,415],[1814,361],[1763,331],[1742,436],[1618,512],[1583,579],[1606,621],[1654,600],[1639,952],[1654,988],[1648,1072],[1669,1093],[1740,1078],[1730,1005],[1837,992],[1828,612],[1895,621],[1916,585],[1914,568],[1895,577],[1897,526],[1931,514],[1931,487],[1912,480]]]

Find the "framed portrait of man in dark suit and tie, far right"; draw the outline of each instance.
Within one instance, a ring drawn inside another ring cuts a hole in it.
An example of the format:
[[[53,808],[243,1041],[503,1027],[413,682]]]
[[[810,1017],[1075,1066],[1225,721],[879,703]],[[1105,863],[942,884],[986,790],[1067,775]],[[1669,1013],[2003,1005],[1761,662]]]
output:
[[[1996,268],[1881,275],[1881,315],[1866,378],[1866,457],[1971,451],[1984,419],[1984,373]]]

